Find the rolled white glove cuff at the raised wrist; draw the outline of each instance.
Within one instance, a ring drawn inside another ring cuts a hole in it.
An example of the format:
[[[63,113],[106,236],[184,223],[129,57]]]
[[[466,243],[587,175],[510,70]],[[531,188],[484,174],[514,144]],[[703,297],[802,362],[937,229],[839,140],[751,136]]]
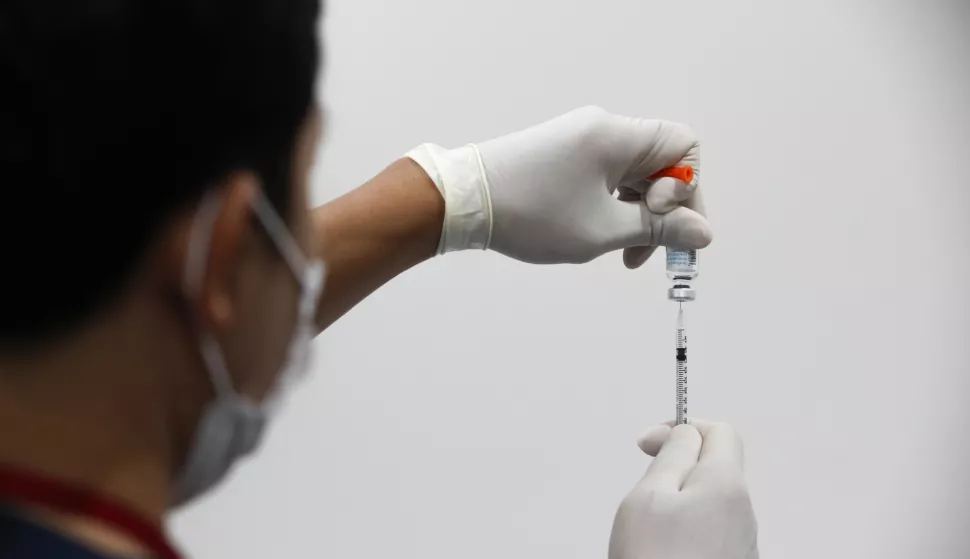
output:
[[[422,144],[407,153],[428,174],[445,200],[445,219],[437,254],[488,249],[492,237],[492,201],[482,157],[474,144],[446,150]]]

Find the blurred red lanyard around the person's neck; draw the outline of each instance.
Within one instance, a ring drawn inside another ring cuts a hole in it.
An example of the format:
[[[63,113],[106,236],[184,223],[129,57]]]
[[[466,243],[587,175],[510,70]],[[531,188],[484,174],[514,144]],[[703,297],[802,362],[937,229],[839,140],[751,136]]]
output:
[[[158,559],[182,559],[153,523],[89,489],[0,464],[0,501],[99,520],[147,547]]]

